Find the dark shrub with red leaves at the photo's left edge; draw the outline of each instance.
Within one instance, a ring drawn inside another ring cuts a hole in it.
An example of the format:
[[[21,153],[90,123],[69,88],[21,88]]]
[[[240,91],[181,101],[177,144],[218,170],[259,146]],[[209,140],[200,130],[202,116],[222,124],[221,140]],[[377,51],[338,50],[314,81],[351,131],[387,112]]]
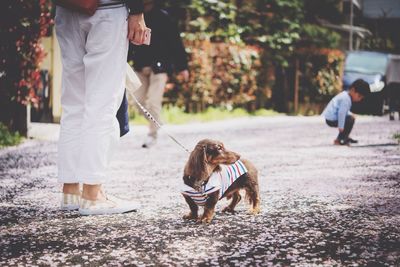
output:
[[[39,101],[34,88],[41,82],[45,55],[40,38],[52,24],[50,10],[50,0],[0,1],[0,121],[10,129],[21,130],[13,117],[16,106]]]

